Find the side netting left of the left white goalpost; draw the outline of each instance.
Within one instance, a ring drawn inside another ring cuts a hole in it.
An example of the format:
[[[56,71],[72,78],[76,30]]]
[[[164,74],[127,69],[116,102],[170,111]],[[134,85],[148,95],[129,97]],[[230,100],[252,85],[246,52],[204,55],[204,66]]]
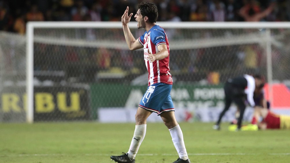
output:
[[[0,32],[0,122],[26,121],[26,39]]]

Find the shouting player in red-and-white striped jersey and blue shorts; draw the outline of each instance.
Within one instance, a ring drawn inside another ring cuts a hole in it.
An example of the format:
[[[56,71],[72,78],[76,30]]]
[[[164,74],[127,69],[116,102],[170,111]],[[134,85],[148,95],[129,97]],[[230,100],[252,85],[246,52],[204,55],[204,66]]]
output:
[[[122,25],[127,45],[130,50],[143,48],[144,61],[148,69],[148,89],[140,101],[135,115],[136,126],[127,153],[110,158],[119,163],[135,163],[135,156],[145,137],[146,120],[155,112],[169,129],[173,144],[179,158],[173,163],[190,163],[184,145],[183,134],[175,119],[173,102],[170,96],[172,78],[169,69],[169,44],[167,36],[160,26],[156,25],[157,7],[153,3],[142,2],[134,18],[137,28],[146,31],[138,39],[131,33],[128,23],[133,15],[128,15],[129,7],[122,16]]]

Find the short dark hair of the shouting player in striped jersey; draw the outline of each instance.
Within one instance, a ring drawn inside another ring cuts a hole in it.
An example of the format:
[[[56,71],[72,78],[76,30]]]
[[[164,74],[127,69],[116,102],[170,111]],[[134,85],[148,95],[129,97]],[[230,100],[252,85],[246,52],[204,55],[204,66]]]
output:
[[[140,9],[140,14],[145,17],[148,17],[148,20],[150,23],[156,23],[156,20],[158,18],[158,10],[157,6],[153,3],[148,2],[141,2],[138,6],[138,9]]]

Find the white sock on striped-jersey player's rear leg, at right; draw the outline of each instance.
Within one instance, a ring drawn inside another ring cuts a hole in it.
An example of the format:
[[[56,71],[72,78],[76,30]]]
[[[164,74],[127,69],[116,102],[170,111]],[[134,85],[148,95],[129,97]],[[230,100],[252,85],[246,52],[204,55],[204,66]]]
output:
[[[179,155],[179,158],[181,158],[182,160],[187,160],[188,155],[187,155],[186,148],[184,145],[183,134],[180,129],[180,126],[177,125],[173,127],[172,129],[169,129],[169,132],[172,138],[172,142],[175,146],[175,149]]]

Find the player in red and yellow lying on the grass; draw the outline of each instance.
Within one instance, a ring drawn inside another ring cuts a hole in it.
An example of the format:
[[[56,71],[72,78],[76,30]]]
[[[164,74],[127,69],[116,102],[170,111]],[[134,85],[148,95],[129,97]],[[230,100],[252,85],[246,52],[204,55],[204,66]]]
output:
[[[290,116],[275,114],[266,108],[256,108],[254,116],[262,122],[258,123],[259,129],[290,129]]]

